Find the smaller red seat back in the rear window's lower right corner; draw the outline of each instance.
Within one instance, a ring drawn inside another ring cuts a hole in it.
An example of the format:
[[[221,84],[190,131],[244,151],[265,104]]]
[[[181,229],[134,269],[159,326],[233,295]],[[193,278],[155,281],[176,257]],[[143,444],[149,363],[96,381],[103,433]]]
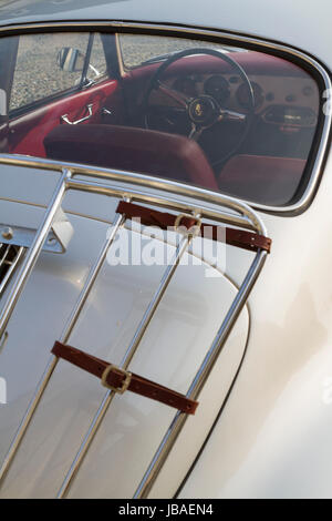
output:
[[[220,172],[219,190],[264,204],[284,204],[284,194],[290,200],[295,193],[304,167],[304,160],[236,155]]]

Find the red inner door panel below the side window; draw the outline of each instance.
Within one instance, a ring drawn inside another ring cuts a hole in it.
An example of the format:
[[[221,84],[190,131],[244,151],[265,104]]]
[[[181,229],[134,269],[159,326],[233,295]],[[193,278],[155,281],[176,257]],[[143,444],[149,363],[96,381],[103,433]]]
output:
[[[93,115],[80,125],[100,123],[103,106],[115,114],[112,120],[115,123],[123,119],[123,99],[118,82],[107,80],[12,120],[10,122],[10,152],[45,157],[43,145],[45,135],[60,124],[64,125],[61,123],[61,116],[64,114],[68,114],[70,121],[84,118],[90,103],[93,104]]]

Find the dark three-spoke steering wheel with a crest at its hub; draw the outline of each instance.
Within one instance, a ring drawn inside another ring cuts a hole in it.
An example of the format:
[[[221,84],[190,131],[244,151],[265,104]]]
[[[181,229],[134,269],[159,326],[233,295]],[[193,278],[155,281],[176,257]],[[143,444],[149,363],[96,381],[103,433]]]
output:
[[[194,54],[209,54],[219,58],[237,71],[248,90],[248,106],[246,113],[235,112],[226,109],[212,95],[201,94],[197,96],[190,96],[184,92],[180,92],[179,90],[174,89],[173,86],[167,85],[164,81],[162,81],[163,74],[172,64],[183,58]],[[190,123],[190,131],[188,133],[188,137],[190,140],[198,141],[204,131],[220,122],[237,121],[242,123],[240,137],[238,139],[236,145],[231,146],[226,154],[224,153],[222,156],[214,161],[212,166],[225,162],[229,156],[231,156],[241,146],[249,133],[255,112],[255,94],[252,85],[245,70],[232,58],[230,58],[229,54],[214,49],[194,48],[180,51],[165,60],[157,71],[152,75],[142,101],[145,127],[148,130],[155,130],[152,129],[148,121],[149,98],[153,91],[162,92],[178,104],[178,109],[176,109],[177,112],[185,114],[187,121]]]

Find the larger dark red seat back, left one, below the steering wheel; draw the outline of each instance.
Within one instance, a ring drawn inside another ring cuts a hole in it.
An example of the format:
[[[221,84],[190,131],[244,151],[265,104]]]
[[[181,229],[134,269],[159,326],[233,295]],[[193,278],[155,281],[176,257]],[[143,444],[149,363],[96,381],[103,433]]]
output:
[[[218,190],[200,146],[187,137],[116,125],[60,125],[44,139],[48,157],[159,175]]]

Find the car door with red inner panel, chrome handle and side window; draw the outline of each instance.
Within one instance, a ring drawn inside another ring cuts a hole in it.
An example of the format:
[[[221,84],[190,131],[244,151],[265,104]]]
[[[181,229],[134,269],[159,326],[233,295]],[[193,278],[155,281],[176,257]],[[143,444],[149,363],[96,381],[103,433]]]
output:
[[[60,124],[121,122],[122,94],[105,45],[115,45],[112,34],[20,37],[9,102],[9,152],[44,157],[43,140]]]

